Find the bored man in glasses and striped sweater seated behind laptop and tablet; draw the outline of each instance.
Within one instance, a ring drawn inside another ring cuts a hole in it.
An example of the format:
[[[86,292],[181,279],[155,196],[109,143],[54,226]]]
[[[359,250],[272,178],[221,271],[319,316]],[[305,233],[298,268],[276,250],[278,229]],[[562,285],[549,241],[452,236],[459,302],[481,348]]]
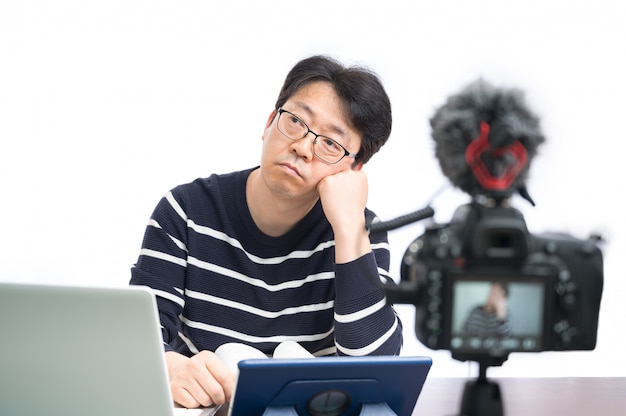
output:
[[[381,281],[387,236],[370,241],[361,170],[390,133],[377,76],[314,56],[287,75],[259,167],[159,202],[131,284],[156,292],[177,403],[230,399],[234,376],[213,353],[227,342],[268,355],[285,340],[315,356],[399,353],[402,326]]]

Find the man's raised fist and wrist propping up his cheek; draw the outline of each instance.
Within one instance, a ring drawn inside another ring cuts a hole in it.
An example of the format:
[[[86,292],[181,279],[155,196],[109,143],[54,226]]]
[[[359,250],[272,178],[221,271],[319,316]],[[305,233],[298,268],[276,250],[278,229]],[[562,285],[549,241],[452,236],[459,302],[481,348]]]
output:
[[[344,170],[317,185],[324,215],[335,234],[335,261],[347,263],[371,251],[365,229],[368,184],[365,172]]]

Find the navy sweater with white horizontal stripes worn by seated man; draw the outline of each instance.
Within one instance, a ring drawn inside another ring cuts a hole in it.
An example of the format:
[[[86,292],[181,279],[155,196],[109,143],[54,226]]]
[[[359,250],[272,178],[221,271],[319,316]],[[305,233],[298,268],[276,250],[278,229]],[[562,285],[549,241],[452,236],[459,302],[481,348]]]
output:
[[[291,231],[267,236],[247,208],[251,171],[180,185],[150,218],[130,284],[155,291],[165,350],[191,356],[241,342],[270,355],[293,340],[316,356],[398,354],[402,326],[382,287],[387,236],[335,264],[319,201]]]

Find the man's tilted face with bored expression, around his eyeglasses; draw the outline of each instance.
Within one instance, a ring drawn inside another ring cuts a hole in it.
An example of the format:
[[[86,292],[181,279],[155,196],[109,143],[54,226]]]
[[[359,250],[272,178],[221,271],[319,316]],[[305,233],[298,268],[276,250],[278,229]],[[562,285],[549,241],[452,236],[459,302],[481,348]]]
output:
[[[341,103],[330,84],[319,81],[302,87],[283,108],[295,114],[312,131],[332,138],[350,153],[359,151],[361,137],[343,116]],[[278,196],[317,198],[316,187],[320,180],[352,168],[354,158],[326,163],[313,152],[313,134],[294,141],[278,130],[277,123],[278,114],[272,112],[263,135],[261,173],[268,188]]]

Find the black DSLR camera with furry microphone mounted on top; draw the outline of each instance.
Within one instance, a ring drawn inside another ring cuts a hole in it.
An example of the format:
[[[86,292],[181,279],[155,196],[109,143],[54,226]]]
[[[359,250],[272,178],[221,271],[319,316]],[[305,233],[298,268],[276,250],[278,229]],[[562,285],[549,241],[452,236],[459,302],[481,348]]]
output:
[[[545,140],[523,94],[479,79],[430,123],[443,173],[472,198],[409,245],[387,301],[415,305],[418,340],[461,361],[492,366],[511,352],[594,349],[600,239],[531,234],[510,205],[514,193],[534,205],[525,182]]]

